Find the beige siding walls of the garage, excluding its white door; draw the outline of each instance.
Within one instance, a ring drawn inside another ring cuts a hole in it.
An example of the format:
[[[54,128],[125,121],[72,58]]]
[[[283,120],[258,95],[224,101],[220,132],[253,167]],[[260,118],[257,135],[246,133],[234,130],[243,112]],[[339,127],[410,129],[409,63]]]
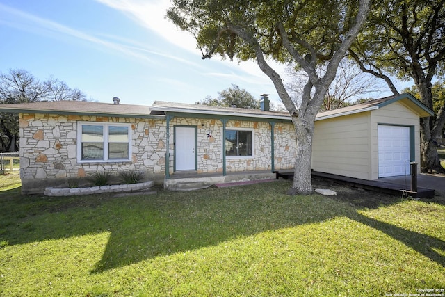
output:
[[[378,179],[378,125],[414,129],[414,159],[420,163],[419,114],[401,102],[380,109],[315,122],[312,169],[319,172]],[[420,173],[420,166],[418,173]]]

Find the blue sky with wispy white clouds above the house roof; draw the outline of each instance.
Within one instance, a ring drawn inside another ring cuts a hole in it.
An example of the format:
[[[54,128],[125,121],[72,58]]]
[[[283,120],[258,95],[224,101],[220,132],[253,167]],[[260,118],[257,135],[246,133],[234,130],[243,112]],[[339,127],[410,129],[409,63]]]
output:
[[[253,62],[202,60],[165,19],[169,0],[0,0],[0,72],[51,75],[97,102],[195,103],[232,84],[279,97]]]

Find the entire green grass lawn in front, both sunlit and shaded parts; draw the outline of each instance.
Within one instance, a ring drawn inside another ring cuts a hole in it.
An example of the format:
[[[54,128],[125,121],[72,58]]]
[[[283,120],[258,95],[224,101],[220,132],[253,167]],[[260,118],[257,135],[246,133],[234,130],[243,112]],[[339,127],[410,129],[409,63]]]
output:
[[[444,288],[445,203],[288,182],[113,198],[0,192],[0,296],[385,296]]]

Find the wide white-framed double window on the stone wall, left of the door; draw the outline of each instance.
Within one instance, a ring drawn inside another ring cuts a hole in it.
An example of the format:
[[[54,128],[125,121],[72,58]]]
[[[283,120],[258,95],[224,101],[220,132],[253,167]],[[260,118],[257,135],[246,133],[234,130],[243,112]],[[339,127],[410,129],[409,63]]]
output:
[[[129,161],[130,125],[79,123],[78,161]]]

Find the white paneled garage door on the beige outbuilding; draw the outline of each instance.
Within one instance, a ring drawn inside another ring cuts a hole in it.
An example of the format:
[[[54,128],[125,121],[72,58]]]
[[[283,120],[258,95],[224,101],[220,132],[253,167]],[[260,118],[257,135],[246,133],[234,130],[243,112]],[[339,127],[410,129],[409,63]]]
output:
[[[410,127],[378,125],[378,177],[410,174]]]

